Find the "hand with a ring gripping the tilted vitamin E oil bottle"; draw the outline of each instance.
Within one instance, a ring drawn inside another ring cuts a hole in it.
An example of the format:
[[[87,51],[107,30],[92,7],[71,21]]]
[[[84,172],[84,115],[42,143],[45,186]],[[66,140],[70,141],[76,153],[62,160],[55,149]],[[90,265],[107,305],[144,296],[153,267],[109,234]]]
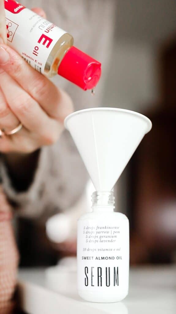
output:
[[[31,153],[56,142],[65,117],[73,110],[70,97],[38,73],[6,45],[4,9],[0,0],[0,129],[4,133],[22,123],[23,128],[0,139],[3,153]],[[36,8],[34,12],[43,15]]]

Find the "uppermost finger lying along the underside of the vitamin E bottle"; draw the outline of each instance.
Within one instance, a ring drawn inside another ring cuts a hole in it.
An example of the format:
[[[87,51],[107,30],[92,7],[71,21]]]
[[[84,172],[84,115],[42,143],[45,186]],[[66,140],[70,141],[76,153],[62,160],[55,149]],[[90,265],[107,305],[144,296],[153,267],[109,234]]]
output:
[[[1,45],[0,66],[34,98],[50,116],[63,122],[73,111],[70,97],[38,73],[10,47]]]

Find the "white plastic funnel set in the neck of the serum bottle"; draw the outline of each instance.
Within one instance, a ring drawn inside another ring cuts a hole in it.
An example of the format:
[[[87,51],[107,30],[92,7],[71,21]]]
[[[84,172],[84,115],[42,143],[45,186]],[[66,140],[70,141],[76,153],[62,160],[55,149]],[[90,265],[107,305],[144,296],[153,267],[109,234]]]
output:
[[[96,191],[111,191],[152,123],[119,108],[75,111],[65,119]]]

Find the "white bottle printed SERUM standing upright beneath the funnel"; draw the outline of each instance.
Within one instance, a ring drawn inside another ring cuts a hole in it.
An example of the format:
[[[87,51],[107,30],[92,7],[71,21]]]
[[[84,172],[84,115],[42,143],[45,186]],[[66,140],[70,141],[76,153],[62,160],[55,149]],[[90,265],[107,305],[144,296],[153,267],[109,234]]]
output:
[[[117,302],[128,294],[129,221],[114,212],[113,192],[94,192],[92,212],[78,220],[78,294],[91,302]]]

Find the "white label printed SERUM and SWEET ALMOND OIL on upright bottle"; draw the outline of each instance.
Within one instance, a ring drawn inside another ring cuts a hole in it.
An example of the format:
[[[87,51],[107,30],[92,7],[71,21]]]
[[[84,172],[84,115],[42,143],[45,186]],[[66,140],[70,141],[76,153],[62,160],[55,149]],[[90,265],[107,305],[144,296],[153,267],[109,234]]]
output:
[[[77,266],[78,290],[127,290],[128,220],[79,220]]]

